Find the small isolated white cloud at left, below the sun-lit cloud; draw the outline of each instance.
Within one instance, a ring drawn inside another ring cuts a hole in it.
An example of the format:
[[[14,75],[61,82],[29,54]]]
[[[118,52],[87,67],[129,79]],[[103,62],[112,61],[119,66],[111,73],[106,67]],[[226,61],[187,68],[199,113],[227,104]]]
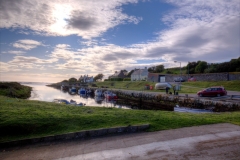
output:
[[[30,39],[23,39],[18,40],[15,43],[13,43],[13,47],[15,48],[21,48],[24,50],[31,50],[33,48],[36,48],[37,46],[43,45],[41,42],[30,40]]]

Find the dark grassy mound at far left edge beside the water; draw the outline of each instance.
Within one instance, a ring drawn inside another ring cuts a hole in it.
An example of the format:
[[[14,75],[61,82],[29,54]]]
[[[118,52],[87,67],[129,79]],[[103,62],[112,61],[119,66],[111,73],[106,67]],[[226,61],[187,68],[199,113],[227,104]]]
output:
[[[0,95],[26,99],[31,96],[32,88],[18,82],[0,82]]]

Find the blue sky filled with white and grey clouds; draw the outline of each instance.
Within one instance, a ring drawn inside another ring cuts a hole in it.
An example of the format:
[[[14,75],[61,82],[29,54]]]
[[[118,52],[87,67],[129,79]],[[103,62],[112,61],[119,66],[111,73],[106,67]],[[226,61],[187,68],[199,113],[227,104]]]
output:
[[[0,81],[238,57],[239,0],[0,0]]]

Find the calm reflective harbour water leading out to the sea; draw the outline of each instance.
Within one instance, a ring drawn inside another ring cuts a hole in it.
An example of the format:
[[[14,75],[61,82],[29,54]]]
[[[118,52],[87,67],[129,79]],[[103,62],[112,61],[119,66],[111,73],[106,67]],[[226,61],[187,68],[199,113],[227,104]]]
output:
[[[77,103],[84,103],[86,106],[99,106],[99,107],[116,107],[116,108],[124,108],[131,109],[129,106],[122,106],[116,104],[116,101],[108,101],[104,98],[94,98],[94,97],[83,97],[78,94],[71,95],[68,92],[63,92],[61,90],[47,87],[46,83],[21,83],[26,86],[30,86],[33,88],[31,93],[31,97],[29,100],[40,100],[52,102],[54,99],[66,99],[68,101],[75,100]]]

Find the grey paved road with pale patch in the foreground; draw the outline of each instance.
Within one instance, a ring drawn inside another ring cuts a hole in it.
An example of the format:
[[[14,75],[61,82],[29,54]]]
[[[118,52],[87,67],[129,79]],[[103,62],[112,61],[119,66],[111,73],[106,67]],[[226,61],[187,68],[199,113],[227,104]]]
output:
[[[215,124],[1,151],[1,160],[239,159],[240,126]]]

